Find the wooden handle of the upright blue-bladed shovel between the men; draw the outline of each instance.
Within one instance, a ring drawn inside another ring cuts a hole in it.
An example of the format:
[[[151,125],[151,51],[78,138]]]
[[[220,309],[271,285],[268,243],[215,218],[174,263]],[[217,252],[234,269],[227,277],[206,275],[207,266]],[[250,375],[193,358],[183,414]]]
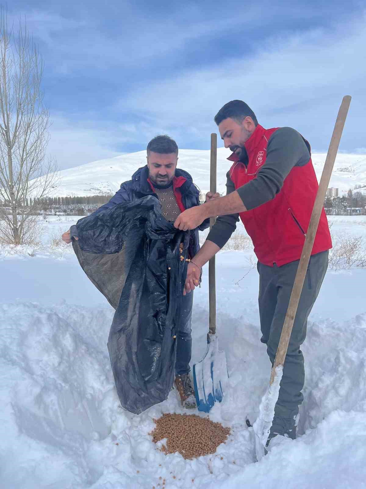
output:
[[[210,192],[216,193],[216,167],[217,167],[217,134],[211,134],[210,156]],[[210,229],[215,224],[216,218],[210,218]],[[208,262],[208,302],[209,302],[209,334],[216,333],[216,277],[215,256]]]

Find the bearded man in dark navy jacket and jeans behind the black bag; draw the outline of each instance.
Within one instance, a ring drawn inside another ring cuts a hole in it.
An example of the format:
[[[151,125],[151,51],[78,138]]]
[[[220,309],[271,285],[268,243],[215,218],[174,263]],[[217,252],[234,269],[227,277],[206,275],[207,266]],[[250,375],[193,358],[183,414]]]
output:
[[[166,135],[154,137],[147,145],[147,165],[139,168],[131,180],[123,182],[120,190],[116,192],[109,202],[102,205],[93,214],[109,209],[122,202],[131,202],[147,195],[159,199],[162,205],[162,214],[167,221],[174,222],[185,209],[199,205],[199,191],[192,181],[192,177],[177,168],[177,143]],[[206,195],[206,201],[219,194]],[[189,256],[192,258],[200,249],[198,231],[209,226],[209,220],[196,229],[190,231]],[[70,234],[71,233],[71,234]],[[65,243],[71,243],[71,237],[77,238],[76,226],[62,235]],[[187,293],[182,299],[182,315],[178,328],[176,378],[175,385],[180,394],[183,407],[189,409],[196,407],[194,389],[189,377],[189,362],[192,351],[191,317],[193,305],[193,291]]]

